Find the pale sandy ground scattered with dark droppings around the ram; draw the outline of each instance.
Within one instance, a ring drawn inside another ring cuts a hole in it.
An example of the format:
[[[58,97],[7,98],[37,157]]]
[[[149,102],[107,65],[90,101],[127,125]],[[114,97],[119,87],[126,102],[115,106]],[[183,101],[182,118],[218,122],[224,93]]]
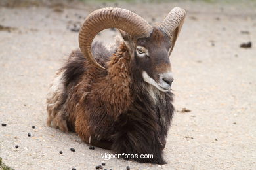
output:
[[[14,169],[95,169],[101,161],[106,169],[127,165],[256,169],[256,5],[252,1],[118,4],[148,22],[161,21],[175,6],[188,12],[171,56],[178,111],[164,150],[167,165],[103,160],[101,154],[108,150],[89,150],[74,133],[47,127],[49,84],[68,54],[78,48],[78,33],[70,29],[89,12],[106,6],[114,4],[0,7],[0,24],[14,28],[0,31],[0,123],[7,124],[0,126],[3,162]],[[108,31],[98,38],[112,39],[115,33]],[[252,48],[240,48],[248,41]],[[181,112],[182,108],[191,111]]]

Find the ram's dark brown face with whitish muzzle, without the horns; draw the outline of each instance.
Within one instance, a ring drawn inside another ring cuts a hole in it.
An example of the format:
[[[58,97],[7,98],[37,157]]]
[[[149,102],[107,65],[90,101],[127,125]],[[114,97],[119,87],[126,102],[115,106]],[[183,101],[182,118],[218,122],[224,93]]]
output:
[[[173,75],[171,73],[170,49],[171,41],[160,29],[148,38],[135,41],[134,57],[145,82],[166,92],[171,89]]]

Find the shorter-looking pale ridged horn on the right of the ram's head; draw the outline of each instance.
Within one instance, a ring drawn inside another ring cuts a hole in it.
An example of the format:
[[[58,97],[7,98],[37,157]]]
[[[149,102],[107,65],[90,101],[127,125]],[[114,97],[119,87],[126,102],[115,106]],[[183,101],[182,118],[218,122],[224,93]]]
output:
[[[185,16],[186,11],[184,9],[174,7],[159,25],[160,29],[165,32],[172,41],[171,51],[181,31]]]

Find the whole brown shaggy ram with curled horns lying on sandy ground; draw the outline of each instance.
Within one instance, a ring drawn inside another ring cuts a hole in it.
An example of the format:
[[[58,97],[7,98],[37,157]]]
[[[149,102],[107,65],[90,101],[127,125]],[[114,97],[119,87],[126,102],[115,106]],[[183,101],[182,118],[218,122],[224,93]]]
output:
[[[74,131],[85,143],[116,154],[153,154],[134,159],[163,164],[173,116],[169,56],[185,18],[175,7],[151,26],[119,8],[95,10],[79,32],[79,47],[57,73],[47,97],[47,124]],[[115,27],[123,41],[108,50],[92,41]]]

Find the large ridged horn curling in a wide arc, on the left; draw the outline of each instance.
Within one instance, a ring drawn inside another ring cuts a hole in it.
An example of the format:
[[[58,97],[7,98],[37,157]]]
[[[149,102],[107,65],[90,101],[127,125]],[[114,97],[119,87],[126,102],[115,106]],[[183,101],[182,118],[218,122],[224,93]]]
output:
[[[103,8],[89,14],[79,32],[79,46],[85,58],[90,59],[96,66],[102,67],[91,53],[91,43],[100,31],[115,27],[129,33],[132,37],[149,37],[152,26],[137,14],[120,8]]]

